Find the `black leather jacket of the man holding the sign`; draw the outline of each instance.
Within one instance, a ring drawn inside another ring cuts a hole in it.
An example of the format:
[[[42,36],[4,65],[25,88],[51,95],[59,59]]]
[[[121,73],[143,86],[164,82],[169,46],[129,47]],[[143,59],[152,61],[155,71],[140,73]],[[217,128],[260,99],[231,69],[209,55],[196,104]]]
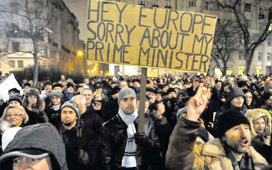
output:
[[[138,129],[139,119],[134,121],[135,129]],[[160,140],[156,134],[151,118],[145,114],[144,133],[149,138],[145,145],[142,145],[141,169],[150,169],[150,158],[153,153],[158,153]],[[127,125],[117,114],[102,126],[100,138],[102,145],[102,160],[106,170],[122,169],[122,159],[127,144]]]

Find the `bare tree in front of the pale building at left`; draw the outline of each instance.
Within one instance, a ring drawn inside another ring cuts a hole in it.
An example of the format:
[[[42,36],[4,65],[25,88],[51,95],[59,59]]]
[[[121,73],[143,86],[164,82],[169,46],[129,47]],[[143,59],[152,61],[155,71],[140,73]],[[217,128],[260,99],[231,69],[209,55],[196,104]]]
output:
[[[13,6],[12,6],[13,5]],[[0,46],[0,55],[13,53],[32,54],[34,58],[34,84],[38,82],[38,55],[46,54],[45,38],[46,28],[56,17],[54,6],[48,1],[20,0],[8,6],[0,2],[0,15],[5,17],[5,27],[0,28],[7,36],[5,45]],[[19,24],[18,24],[19,23]],[[10,38],[11,37],[11,38]],[[13,37],[24,37],[31,42],[30,47],[13,51],[10,41]]]

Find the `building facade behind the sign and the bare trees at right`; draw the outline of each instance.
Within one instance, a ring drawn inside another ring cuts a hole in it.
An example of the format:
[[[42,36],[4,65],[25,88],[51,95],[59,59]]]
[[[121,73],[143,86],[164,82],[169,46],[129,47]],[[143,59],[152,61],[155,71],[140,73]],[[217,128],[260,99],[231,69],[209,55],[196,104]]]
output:
[[[218,18],[222,16],[234,17],[222,8],[212,6],[212,4],[207,3],[207,0],[116,0],[118,2],[125,2],[133,5],[147,5],[160,8],[175,9],[179,11],[193,11],[197,13],[208,13],[213,15],[218,15]],[[254,0],[247,0],[245,3],[245,15],[248,19],[248,28],[252,37],[259,34],[264,28],[264,21],[267,19],[265,16],[268,11],[271,10],[272,1],[265,0],[256,4]],[[254,58],[252,61],[250,74],[269,74],[272,73],[272,34],[267,37],[267,39],[262,42],[254,52]],[[227,74],[243,74],[245,69],[245,52],[243,47],[233,50],[229,54],[229,60],[227,62]],[[222,68],[223,62],[219,60],[219,65]],[[217,63],[211,58],[209,74],[220,74],[221,71],[218,69]]]

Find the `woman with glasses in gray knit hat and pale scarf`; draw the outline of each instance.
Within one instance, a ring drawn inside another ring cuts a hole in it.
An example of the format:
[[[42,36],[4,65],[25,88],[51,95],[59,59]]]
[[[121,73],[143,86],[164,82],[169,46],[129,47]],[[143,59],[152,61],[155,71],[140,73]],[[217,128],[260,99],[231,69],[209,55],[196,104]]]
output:
[[[45,113],[49,119],[49,122],[56,126],[60,121],[60,109],[63,105],[63,93],[59,91],[52,91],[49,94],[50,103],[45,109]]]

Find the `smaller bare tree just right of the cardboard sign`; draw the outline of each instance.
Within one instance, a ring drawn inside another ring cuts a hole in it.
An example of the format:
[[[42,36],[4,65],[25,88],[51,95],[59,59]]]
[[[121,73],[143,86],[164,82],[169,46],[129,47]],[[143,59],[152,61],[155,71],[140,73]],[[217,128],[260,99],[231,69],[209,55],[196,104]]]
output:
[[[240,46],[240,30],[237,27],[228,17],[217,20],[211,59],[216,62],[223,75],[226,75],[228,61],[232,60],[232,52]]]

